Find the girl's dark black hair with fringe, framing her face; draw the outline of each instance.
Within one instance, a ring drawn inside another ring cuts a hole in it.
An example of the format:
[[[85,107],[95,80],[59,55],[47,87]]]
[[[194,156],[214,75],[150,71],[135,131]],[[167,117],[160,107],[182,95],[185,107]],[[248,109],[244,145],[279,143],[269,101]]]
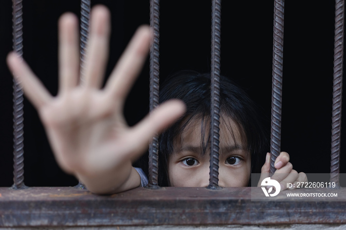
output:
[[[159,185],[169,186],[168,159],[173,153],[174,139],[187,123],[197,116],[210,117],[211,75],[181,71],[168,77],[161,85],[160,103],[179,99],[186,105],[186,113],[165,130],[159,140]],[[246,148],[251,153],[252,173],[260,172],[267,139],[259,120],[257,106],[246,92],[227,77],[220,77],[220,113],[229,116],[239,127]],[[220,115],[220,116],[221,116]],[[205,119],[209,120],[209,119]],[[209,130],[206,130],[209,133]],[[203,135],[203,134],[202,134]]]

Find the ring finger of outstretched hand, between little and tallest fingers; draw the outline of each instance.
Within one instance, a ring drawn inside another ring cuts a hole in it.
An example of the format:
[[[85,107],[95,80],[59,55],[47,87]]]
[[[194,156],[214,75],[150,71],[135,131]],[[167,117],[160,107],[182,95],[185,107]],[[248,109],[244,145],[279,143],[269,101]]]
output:
[[[79,77],[79,33],[75,15],[66,13],[59,20],[59,92],[77,85]]]

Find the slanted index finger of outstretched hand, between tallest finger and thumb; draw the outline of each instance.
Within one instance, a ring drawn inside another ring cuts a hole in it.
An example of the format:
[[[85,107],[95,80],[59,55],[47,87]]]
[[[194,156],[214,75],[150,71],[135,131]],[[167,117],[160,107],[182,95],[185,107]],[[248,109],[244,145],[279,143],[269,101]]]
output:
[[[150,38],[151,33],[148,26],[139,27],[132,37],[106,84],[106,91],[113,98],[125,100],[134,79],[140,73],[147,58]]]

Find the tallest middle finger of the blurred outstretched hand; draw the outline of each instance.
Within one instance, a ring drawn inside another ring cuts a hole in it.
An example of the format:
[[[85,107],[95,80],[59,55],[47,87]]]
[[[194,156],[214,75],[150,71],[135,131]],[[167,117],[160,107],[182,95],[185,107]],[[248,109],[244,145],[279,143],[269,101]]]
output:
[[[100,5],[93,7],[86,66],[82,70],[84,84],[87,87],[99,88],[102,83],[108,58],[110,31],[109,10]]]

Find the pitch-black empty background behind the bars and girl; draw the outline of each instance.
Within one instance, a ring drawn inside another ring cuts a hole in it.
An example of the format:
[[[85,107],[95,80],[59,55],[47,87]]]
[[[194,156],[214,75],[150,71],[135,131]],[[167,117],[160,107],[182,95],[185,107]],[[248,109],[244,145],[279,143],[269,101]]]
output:
[[[112,12],[109,74],[135,29],[149,23],[149,0],[92,0],[92,5],[98,3]],[[0,3],[0,187],[13,183],[12,78],[5,65],[12,49],[11,7],[10,0]],[[80,15],[80,1],[25,0],[23,7],[24,58],[56,94],[57,20],[66,11]],[[211,1],[161,1],[160,7],[161,81],[183,69],[209,72]],[[269,129],[273,2],[223,0],[221,10],[221,74],[234,79],[259,104]],[[290,153],[297,171],[329,173],[334,2],[287,1],[284,34],[282,151]],[[130,125],[148,112],[148,79],[147,63],[126,104]],[[56,165],[36,111],[27,100],[24,106],[25,184],[76,185],[75,178]],[[346,169],[344,149],[342,145],[341,172]]]

